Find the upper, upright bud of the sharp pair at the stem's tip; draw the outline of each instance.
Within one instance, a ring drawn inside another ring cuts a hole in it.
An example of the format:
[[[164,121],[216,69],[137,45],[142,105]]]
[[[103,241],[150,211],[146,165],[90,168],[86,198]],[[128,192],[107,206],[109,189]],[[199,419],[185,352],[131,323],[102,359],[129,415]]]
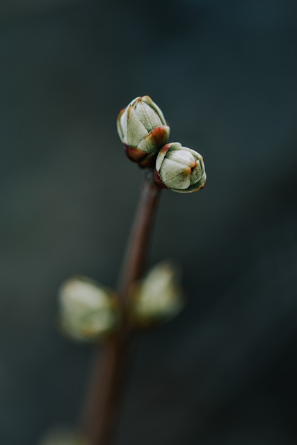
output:
[[[163,113],[149,96],[136,97],[123,108],[117,120],[120,140],[131,161],[147,167],[168,142],[170,129]]]

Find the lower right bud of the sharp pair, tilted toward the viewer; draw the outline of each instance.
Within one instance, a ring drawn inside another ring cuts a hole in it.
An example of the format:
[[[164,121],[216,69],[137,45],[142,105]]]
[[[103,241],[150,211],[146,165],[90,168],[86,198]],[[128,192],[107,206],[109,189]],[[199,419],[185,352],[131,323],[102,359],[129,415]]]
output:
[[[156,158],[154,181],[160,187],[178,193],[191,193],[203,188],[207,176],[202,156],[178,142],[164,145]]]

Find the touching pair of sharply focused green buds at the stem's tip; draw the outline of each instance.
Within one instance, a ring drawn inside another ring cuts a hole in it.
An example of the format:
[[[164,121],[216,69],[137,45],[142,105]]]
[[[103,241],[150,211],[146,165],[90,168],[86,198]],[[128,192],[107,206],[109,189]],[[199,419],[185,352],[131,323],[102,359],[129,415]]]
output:
[[[163,113],[149,96],[136,97],[120,111],[120,140],[131,161],[154,168],[154,181],[162,188],[191,193],[206,181],[202,156],[180,143],[168,143],[170,128]]]

